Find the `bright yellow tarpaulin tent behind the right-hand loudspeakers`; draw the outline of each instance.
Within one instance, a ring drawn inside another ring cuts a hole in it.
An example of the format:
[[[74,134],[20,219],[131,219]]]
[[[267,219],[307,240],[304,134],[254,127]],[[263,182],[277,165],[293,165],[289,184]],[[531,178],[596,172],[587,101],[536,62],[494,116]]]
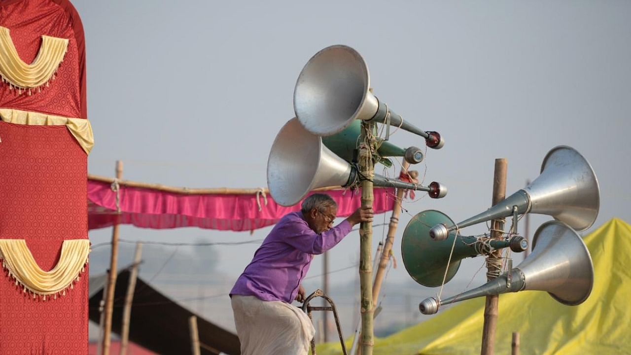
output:
[[[631,354],[631,226],[612,219],[584,241],[594,263],[587,301],[564,306],[542,291],[500,295],[496,354],[510,354],[512,332],[521,336],[521,354]],[[480,354],[484,303],[484,298],[456,303],[430,320],[375,339],[373,354]],[[339,343],[323,344],[317,354],[341,354]]]

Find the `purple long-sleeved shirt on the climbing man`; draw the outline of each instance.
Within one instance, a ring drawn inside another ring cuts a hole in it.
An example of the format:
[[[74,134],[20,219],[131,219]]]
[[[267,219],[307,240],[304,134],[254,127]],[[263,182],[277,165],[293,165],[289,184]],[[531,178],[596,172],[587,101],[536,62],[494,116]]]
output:
[[[230,295],[256,296],[263,301],[292,303],[314,254],[333,248],[351,231],[344,220],[328,231],[316,234],[302,212],[285,215],[269,232],[252,262],[232,287]]]

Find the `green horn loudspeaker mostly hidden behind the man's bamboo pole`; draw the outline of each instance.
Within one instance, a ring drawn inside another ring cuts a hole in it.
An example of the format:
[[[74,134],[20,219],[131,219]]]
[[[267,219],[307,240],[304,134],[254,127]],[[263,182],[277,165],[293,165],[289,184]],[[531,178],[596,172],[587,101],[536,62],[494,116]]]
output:
[[[341,132],[322,137],[322,143],[340,158],[347,162],[353,162],[353,152],[357,151],[361,130],[361,123],[355,120]],[[408,147],[404,149],[385,140],[379,140],[378,146],[377,152],[382,157],[403,157],[410,164],[418,164],[423,161],[423,152],[420,148]]]

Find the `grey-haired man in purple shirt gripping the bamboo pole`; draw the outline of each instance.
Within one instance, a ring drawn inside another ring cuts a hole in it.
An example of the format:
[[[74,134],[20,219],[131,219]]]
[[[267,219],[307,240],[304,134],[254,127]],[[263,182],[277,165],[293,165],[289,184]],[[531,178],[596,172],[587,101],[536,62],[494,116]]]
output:
[[[230,291],[242,355],[302,355],[314,328],[290,303],[304,301],[302,287],[315,254],[333,248],[360,222],[372,222],[372,208],[358,208],[333,227],[338,212],[329,195],[314,194],[300,212],[285,215],[254,253]]]

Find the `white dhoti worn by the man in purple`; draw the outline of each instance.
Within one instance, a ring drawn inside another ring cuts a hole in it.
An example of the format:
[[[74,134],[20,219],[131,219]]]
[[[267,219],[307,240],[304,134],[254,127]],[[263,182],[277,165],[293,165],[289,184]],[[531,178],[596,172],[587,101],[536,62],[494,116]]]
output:
[[[315,329],[309,316],[282,301],[232,295],[241,355],[307,355]]]

